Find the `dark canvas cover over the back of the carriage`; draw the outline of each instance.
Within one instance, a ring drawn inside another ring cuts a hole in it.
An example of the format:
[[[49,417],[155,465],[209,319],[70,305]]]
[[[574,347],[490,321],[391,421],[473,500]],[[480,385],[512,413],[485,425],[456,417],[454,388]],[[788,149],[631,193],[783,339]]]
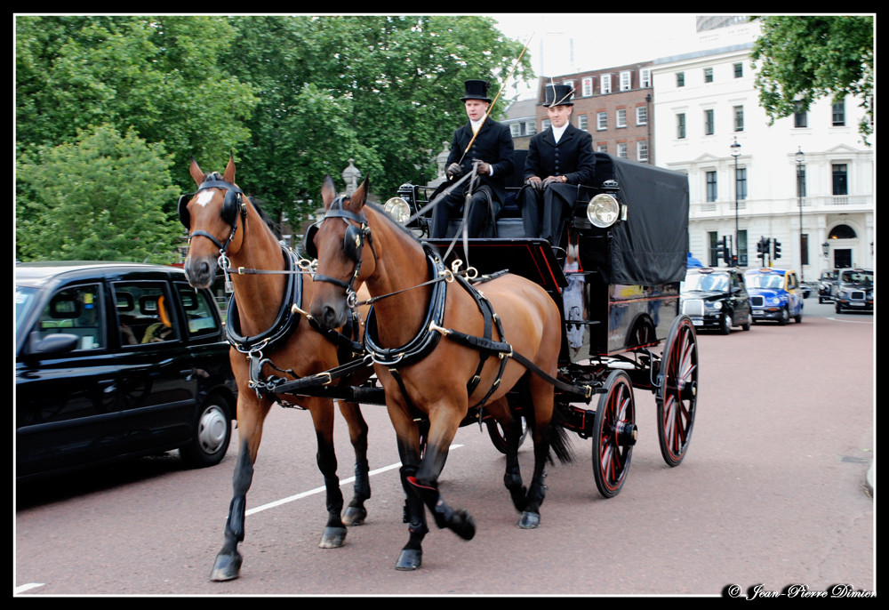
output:
[[[666,170],[596,154],[596,183],[615,180],[628,206],[627,221],[612,230],[610,284],[658,285],[685,279],[688,260],[688,178]],[[669,229],[665,229],[669,228]]]

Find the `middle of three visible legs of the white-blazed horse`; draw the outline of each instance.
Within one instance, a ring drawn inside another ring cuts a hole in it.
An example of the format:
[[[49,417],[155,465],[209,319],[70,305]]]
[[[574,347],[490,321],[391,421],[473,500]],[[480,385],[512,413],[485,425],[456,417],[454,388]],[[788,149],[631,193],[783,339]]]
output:
[[[340,491],[340,478],[337,477],[336,452],[333,447],[333,403],[330,400],[311,400],[308,410],[312,413],[315,423],[315,435],[318,441],[316,460],[318,470],[324,476],[324,487],[327,490],[327,523],[321,534],[321,549],[337,549],[346,540],[346,526],[340,518],[343,498]]]

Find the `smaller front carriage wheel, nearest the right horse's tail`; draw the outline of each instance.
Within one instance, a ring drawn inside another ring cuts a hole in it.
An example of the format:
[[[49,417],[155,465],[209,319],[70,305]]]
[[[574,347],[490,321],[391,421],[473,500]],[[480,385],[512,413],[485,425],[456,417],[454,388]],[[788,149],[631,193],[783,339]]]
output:
[[[633,384],[623,371],[609,374],[605,389],[593,422],[593,474],[599,493],[612,498],[627,479],[636,444],[636,403]]]

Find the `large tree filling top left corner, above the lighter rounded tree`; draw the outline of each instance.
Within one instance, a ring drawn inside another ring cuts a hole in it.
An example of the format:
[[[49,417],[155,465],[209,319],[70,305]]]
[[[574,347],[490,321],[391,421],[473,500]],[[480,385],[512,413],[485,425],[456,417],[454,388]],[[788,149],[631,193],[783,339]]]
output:
[[[252,89],[219,69],[226,18],[25,15],[15,28],[19,153],[92,124],[133,128],[164,143],[189,189],[192,156],[227,157],[250,136]]]

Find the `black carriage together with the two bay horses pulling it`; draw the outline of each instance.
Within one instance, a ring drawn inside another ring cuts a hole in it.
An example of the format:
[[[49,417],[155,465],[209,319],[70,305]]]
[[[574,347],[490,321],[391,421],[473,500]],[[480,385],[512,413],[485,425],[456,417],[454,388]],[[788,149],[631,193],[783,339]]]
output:
[[[521,167],[525,151],[516,154]],[[455,227],[454,237],[430,240],[422,213],[431,190],[406,184],[386,205],[365,205],[366,181],[351,197],[337,196],[328,176],[326,213],[309,228],[301,257],[277,243],[236,186],[233,159],[224,174],[204,174],[193,162],[198,189],[179,204],[189,231],[185,269],[193,285],[209,284],[217,269],[234,285],[227,333],[240,390],[235,493],[212,580],[239,574],[244,498],[262,421],[276,403],[303,406],[315,422],[329,513],[322,547],[341,546],[346,526],[366,514],[358,404],[387,405],[410,524],[400,570],[421,565],[427,509],[439,528],[465,540],[475,534],[469,513],[452,509],[437,486],[461,426],[484,422],[506,454],[504,485],[522,528],[540,526],[546,463],[553,454],[571,459],[566,432],[592,439],[599,492],[621,491],[638,434],[634,388],[656,398],[664,460],[682,462],[698,382],[696,334],[679,314],[687,181],[596,156],[597,183],[578,189],[557,245],[522,237],[514,205],[488,237],[460,239]],[[518,189],[513,182],[508,190]],[[334,399],[356,448],[356,494],[341,520]],[[526,487],[517,450],[528,435],[534,472]]]

